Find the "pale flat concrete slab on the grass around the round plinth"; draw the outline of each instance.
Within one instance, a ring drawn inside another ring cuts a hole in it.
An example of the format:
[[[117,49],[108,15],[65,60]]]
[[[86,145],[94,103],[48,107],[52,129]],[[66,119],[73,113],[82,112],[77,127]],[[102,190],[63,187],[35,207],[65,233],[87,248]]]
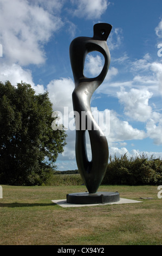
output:
[[[53,203],[58,204],[64,208],[66,207],[83,207],[83,206],[98,206],[98,205],[109,205],[109,204],[132,204],[132,203],[142,203],[141,201],[120,198],[118,202],[115,203],[106,203],[106,204],[69,204],[66,199],[61,200],[51,200]]]

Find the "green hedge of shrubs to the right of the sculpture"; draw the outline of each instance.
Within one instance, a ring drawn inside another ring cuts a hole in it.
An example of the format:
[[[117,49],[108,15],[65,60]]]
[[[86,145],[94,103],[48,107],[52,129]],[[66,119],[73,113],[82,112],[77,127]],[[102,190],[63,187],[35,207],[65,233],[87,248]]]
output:
[[[159,185],[162,182],[162,160],[147,155],[109,157],[107,172],[102,184],[109,185]]]

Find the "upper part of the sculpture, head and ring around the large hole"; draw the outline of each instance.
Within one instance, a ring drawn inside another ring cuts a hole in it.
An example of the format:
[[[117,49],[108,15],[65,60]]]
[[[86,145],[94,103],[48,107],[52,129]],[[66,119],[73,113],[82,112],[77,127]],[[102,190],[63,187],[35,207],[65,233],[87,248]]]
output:
[[[79,36],[75,38],[69,47],[70,63],[72,66],[75,87],[81,82],[97,81],[98,87],[104,80],[110,63],[110,53],[107,45],[107,38],[111,32],[112,25],[108,23],[97,23],[93,26],[93,37]],[[99,76],[96,78],[87,78],[83,74],[86,55],[89,52],[98,51],[103,54],[105,64]]]

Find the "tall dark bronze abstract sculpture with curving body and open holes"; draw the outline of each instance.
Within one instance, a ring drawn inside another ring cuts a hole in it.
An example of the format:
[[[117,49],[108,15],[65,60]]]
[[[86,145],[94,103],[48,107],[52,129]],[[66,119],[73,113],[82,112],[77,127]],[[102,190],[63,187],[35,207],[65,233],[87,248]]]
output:
[[[70,202],[70,195],[81,198],[82,196],[98,196],[98,190],[103,177],[105,176],[108,164],[108,143],[107,139],[101,131],[99,125],[93,118],[90,111],[90,99],[94,91],[100,86],[107,74],[110,54],[107,46],[107,38],[111,32],[112,26],[107,23],[98,23],[94,25],[93,38],[78,37],[75,38],[69,48],[70,63],[72,66],[75,89],[72,94],[74,115],[79,113],[77,118],[75,116],[76,126],[76,162],[79,172],[89,194],[68,194],[67,202]],[[83,74],[86,55],[89,52],[98,51],[103,54],[105,64],[103,65],[100,75],[95,78],[87,78]],[[82,112],[86,112],[85,124],[82,124]],[[79,117],[79,118],[78,118]],[[90,124],[90,129],[89,125]],[[86,130],[88,130],[90,145],[92,150],[92,161],[88,161],[86,149]],[[102,201],[103,201],[102,192]],[[116,196],[116,195],[115,195]],[[88,199],[89,200],[89,199]],[[75,199],[74,199],[75,201]],[[78,199],[77,199],[78,201]],[[94,203],[94,200],[92,200]]]

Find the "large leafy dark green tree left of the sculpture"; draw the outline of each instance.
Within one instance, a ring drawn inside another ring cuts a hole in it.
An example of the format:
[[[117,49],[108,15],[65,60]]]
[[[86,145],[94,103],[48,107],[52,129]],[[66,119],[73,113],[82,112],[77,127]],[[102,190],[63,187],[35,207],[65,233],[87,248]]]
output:
[[[52,130],[48,92],[30,84],[0,82],[0,184],[46,183],[66,145],[64,130]]]

